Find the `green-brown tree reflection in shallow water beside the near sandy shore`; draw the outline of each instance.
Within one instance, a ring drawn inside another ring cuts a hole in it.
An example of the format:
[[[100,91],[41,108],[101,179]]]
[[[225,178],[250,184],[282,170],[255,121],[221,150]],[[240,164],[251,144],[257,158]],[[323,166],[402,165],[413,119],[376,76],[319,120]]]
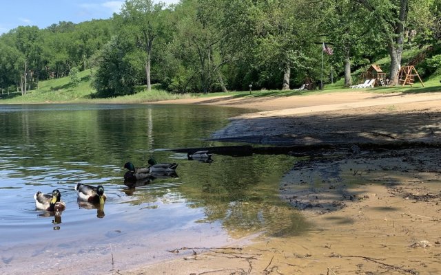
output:
[[[192,207],[204,208],[201,222],[221,221],[230,234],[299,234],[306,221],[278,199],[278,182],[292,162],[285,156],[229,157],[209,177],[195,175],[183,192]]]

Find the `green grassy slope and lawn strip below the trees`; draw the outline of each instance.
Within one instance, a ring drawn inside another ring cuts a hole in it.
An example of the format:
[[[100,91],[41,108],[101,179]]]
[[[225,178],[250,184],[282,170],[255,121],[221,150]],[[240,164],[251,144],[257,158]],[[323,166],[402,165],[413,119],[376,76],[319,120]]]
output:
[[[378,64],[387,66],[387,60],[381,60]],[[234,91],[228,93],[211,93],[211,94],[170,94],[161,89],[153,89],[147,92],[145,87],[137,87],[140,91],[129,96],[119,96],[115,98],[93,98],[94,89],[90,87],[90,70],[80,72],[81,83],[77,87],[70,84],[70,77],[45,80],[39,83],[39,89],[28,91],[28,94],[21,96],[19,92],[0,95],[0,104],[28,104],[28,103],[142,103],[154,102],[158,100],[170,100],[176,98],[192,98],[192,97],[213,97],[213,96],[235,96],[235,97],[266,97],[266,96],[294,96],[307,95],[315,93],[328,92],[345,92],[353,91],[353,89],[342,88],[343,80],[340,79],[336,83],[326,85],[325,90],[315,91]],[[424,80],[424,87],[420,83],[416,83],[413,87],[376,87],[370,88],[369,91],[378,93],[424,93],[441,91],[441,76],[431,76]],[[295,88],[295,87],[293,87]]]

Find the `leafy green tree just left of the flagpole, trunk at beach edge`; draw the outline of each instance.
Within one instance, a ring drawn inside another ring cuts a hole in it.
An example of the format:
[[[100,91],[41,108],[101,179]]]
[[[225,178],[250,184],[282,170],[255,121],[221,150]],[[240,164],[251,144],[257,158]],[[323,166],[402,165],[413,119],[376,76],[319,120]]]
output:
[[[289,89],[291,76],[304,78],[311,71],[318,34],[318,2],[223,1],[222,26],[229,52],[235,52],[248,85],[271,85]],[[316,50],[317,52],[317,50]],[[256,80],[257,75],[257,80]]]

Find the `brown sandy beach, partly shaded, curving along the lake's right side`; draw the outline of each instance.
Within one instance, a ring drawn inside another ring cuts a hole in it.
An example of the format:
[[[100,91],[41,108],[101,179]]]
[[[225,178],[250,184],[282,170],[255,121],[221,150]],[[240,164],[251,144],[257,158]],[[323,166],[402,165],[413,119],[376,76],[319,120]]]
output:
[[[250,109],[214,133],[216,140],[334,145],[302,157],[280,181],[280,198],[311,230],[176,250],[172,261],[114,274],[441,274],[441,93],[161,103]]]

